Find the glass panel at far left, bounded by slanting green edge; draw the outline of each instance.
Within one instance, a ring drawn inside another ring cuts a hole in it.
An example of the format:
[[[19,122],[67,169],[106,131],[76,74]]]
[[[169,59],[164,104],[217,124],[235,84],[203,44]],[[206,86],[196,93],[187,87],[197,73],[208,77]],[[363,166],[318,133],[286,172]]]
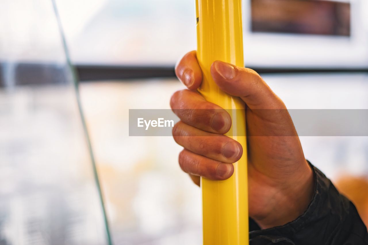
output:
[[[2,1],[0,36],[0,244],[107,244],[52,1]]]

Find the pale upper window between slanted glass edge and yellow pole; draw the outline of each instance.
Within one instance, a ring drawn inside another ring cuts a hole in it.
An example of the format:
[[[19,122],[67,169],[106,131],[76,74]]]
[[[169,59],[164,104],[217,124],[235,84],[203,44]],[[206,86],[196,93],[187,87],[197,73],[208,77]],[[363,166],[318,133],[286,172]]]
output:
[[[194,0],[57,0],[74,63],[173,65],[196,48]]]

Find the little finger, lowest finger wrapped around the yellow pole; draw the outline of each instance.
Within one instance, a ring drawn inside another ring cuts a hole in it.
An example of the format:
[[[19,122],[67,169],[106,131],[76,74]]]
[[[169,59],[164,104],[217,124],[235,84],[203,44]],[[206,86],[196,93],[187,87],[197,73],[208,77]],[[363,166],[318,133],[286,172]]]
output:
[[[210,180],[226,180],[234,173],[233,164],[215,161],[186,149],[179,154],[179,164],[185,173]]]

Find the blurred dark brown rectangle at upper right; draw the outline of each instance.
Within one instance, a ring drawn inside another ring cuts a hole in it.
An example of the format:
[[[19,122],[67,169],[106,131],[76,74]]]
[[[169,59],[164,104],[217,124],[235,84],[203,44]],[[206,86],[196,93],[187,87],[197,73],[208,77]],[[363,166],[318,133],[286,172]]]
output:
[[[350,36],[350,3],[252,0],[252,31]]]

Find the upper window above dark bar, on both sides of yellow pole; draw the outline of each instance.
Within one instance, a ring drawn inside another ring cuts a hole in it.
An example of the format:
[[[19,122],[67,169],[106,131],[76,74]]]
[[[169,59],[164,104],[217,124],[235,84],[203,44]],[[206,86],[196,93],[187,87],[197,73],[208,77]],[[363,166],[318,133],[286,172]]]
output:
[[[74,63],[174,66],[196,49],[194,0],[57,3]],[[366,67],[367,11],[367,0],[244,0],[245,64]]]

